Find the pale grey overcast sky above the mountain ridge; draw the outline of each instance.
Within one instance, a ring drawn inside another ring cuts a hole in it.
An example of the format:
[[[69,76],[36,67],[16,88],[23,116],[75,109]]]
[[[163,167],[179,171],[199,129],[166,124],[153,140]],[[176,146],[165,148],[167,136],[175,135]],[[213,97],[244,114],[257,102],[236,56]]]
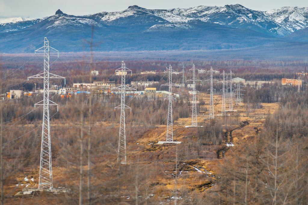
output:
[[[85,15],[102,11],[120,11],[131,5],[147,9],[171,9],[237,3],[249,9],[262,11],[283,6],[308,7],[308,0],[0,0],[0,17],[41,18],[55,14],[58,9],[66,14]]]

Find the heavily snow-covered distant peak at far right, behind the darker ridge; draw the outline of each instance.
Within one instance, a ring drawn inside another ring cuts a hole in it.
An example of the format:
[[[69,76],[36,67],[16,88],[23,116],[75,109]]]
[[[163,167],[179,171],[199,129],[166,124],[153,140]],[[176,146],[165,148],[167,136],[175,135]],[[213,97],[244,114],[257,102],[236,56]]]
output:
[[[282,7],[265,11],[264,14],[291,33],[308,27],[308,7]]]

